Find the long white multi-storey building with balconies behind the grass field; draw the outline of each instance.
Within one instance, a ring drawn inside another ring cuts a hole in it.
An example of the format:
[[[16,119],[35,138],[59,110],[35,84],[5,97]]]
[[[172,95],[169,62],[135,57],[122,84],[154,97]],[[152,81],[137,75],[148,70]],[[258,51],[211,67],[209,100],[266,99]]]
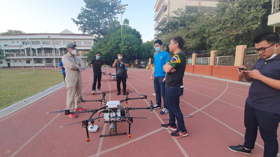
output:
[[[30,42],[31,50],[30,50]],[[62,56],[67,53],[66,45],[77,45],[77,54],[85,63],[90,62],[85,56],[96,41],[94,36],[75,34],[67,29],[60,33],[24,33],[0,36],[0,49],[6,58],[0,60],[0,67],[35,67],[58,66]],[[45,61],[46,60],[46,61]]]

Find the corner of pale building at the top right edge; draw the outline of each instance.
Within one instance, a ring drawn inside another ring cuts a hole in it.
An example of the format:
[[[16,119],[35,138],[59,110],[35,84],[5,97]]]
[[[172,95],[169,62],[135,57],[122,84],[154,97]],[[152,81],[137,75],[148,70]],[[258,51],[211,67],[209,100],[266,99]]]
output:
[[[268,26],[280,26],[280,0],[272,0],[272,13],[268,15]]]

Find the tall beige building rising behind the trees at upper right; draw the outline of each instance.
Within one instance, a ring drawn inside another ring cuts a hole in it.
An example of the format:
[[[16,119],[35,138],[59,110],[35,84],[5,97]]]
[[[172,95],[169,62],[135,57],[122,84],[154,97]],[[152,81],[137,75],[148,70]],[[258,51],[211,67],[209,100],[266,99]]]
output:
[[[162,22],[167,20],[167,16],[175,16],[175,14],[172,13],[174,10],[183,7],[185,7],[186,10],[198,10],[200,7],[200,11],[207,14],[213,12],[217,3],[218,0],[157,0],[154,7],[154,39],[156,39],[157,34],[160,33],[158,29],[162,27]]]

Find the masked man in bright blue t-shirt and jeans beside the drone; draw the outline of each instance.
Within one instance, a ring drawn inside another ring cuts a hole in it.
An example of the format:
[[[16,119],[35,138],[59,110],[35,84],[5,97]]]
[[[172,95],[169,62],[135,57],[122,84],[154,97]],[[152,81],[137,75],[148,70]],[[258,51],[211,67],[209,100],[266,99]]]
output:
[[[154,42],[155,51],[158,53],[155,55],[154,68],[150,81],[154,79],[154,89],[155,89],[155,98],[156,104],[154,109],[161,108],[161,96],[163,99],[163,109],[160,111],[160,114],[166,114],[168,112],[168,106],[165,101],[165,72],[162,69],[163,65],[167,63],[170,59],[168,52],[162,50],[162,41],[157,39]],[[154,77],[154,78],[153,78]]]

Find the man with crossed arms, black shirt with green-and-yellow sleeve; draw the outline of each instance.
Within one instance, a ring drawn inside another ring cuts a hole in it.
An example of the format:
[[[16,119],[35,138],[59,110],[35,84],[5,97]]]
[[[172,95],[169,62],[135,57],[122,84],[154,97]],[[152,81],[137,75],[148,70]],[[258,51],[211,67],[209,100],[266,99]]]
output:
[[[169,44],[170,52],[174,53],[174,56],[163,66],[163,70],[166,72],[165,76],[165,98],[166,104],[169,108],[169,123],[162,124],[164,129],[176,130],[170,135],[174,138],[180,138],[187,136],[188,132],[185,128],[184,117],[180,109],[180,96],[183,95],[183,77],[186,68],[186,57],[182,52],[182,47],[185,41],[180,36],[171,38]],[[175,124],[177,119],[178,129]]]

